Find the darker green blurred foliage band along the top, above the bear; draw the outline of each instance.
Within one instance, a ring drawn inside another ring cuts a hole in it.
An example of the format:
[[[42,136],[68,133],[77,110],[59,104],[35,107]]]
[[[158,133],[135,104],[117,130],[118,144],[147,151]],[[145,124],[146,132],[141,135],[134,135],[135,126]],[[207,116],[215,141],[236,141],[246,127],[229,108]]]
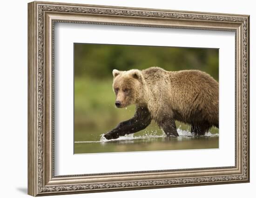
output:
[[[219,50],[135,45],[74,44],[75,77],[112,77],[112,70],[202,70],[219,78]]]

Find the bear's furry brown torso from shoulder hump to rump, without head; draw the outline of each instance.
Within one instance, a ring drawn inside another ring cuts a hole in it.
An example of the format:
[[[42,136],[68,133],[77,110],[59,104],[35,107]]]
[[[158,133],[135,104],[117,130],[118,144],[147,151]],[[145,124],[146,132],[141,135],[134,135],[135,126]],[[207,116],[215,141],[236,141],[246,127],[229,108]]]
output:
[[[217,122],[218,83],[200,70],[166,71],[151,67],[142,70],[149,91],[150,109],[171,109],[175,120]],[[156,105],[157,104],[157,105]],[[162,116],[161,114],[158,116]]]

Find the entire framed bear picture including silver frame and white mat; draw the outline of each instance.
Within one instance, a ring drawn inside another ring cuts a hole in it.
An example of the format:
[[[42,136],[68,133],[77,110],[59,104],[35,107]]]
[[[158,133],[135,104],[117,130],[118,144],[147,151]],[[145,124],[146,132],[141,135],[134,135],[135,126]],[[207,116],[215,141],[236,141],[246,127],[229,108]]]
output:
[[[29,195],[249,182],[249,15],[27,10]]]

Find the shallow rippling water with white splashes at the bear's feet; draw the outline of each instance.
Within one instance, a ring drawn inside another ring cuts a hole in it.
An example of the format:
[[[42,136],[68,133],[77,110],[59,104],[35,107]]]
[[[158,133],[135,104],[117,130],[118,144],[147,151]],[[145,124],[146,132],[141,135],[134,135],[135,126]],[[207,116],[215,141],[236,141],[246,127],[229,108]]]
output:
[[[96,141],[75,141],[74,153],[110,153],[134,151],[161,151],[209,149],[219,147],[219,134],[206,133],[203,136],[191,134],[188,130],[177,129],[179,137],[166,137],[154,131],[146,131],[141,135],[128,134],[115,140],[107,140],[104,134]]]

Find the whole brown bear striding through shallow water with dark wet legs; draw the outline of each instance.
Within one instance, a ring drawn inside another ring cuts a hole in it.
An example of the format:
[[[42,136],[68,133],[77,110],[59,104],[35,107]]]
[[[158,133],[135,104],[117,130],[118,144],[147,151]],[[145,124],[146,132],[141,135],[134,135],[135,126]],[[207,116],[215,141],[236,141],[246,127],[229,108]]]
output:
[[[179,136],[175,120],[191,125],[191,132],[204,135],[219,127],[219,83],[200,70],[113,70],[115,106],[136,105],[133,118],[122,121],[104,135],[116,139],[146,128],[155,120],[167,136]]]

